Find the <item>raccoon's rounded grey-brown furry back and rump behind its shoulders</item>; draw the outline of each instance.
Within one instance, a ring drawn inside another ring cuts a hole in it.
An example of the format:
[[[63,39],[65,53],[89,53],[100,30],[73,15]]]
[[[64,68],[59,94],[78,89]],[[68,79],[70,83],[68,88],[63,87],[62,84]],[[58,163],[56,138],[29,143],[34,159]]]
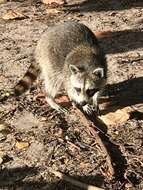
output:
[[[43,67],[61,69],[69,52],[80,44],[98,45],[92,31],[77,22],[65,22],[49,27],[42,35],[37,48],[36,59]]]

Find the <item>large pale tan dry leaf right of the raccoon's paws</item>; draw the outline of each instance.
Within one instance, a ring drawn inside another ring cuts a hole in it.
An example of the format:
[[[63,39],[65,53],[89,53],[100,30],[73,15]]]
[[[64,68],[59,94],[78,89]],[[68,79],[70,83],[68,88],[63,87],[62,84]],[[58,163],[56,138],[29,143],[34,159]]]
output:
[[[99,118],[106,125],[117,125],[126,122],[130,117],[130,112],[133,111],[131,107],[125,107],[115,112],[110,112],[106,115],[102,115]]]

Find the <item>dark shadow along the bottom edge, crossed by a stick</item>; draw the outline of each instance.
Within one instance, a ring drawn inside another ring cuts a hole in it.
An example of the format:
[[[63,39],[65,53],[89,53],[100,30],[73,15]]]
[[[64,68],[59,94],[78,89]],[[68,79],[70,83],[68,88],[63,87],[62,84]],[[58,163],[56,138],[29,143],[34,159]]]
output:
[[[44,172],[44,171],[43,171]],[[40,168],[30,168],[30,167],[19,167],[12,169],[3,169],[0,172],[0,189],[23,189],[23,190],[39,190],[39,189],[47,189],[47,190],[56,190],[56,189],[69,189],[69,190],[78,190],[79,187],[72,185],[62,179],[53,180],[50,182],[41,177],[38,178],[38,174],[40,173]],[[48,171],[45,170],[45,173],[50,178],[51,176]],[[32,177],[30,179],[30,177]],[[84,183],[89,183],[92,185],[102,186],[104,183],[104,177],[97,174],[96,176],[72,176],[79,181],[83,181]],[[26,180],[25,180],[26,179]],[[29,180],[30,179],[30,180]]]

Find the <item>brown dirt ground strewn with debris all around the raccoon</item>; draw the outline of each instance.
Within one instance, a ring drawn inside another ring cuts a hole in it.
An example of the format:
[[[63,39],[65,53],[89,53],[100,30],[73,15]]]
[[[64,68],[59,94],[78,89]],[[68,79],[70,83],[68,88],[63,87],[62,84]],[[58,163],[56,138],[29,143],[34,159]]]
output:
[[[94,32],[107,54],[110,104],[101,115],[125,107],[129,119],[104,125],[101,138],[115,169],[108,177],[106,156],[71,115],[53,111],[34,96],[35,86],[18,99],[0,101],[0,189],[78,190],[49,171],[54,169],[87,184],[109,190],[143,190],[143,1],[68,0],[62,11],[47,13],[40,1],[0,1],[0,96],[11,91],[24,75],[41,33],[54,23],[77,20]],[[4,20],[14,10],[24,19]],[[104,131],[104,133],[103,133]],[[101,132],[101,131],[100,131]]]

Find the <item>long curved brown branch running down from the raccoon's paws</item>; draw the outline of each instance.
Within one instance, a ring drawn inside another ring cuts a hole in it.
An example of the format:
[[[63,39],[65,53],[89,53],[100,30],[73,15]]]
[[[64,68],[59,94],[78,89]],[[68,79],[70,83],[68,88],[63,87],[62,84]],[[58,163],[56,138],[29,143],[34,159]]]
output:
[[[108,154],[108,151],[104,145],[104,143],[102,142],[100,136],[98,135],[98,132],[95,130],[95,125],[90,121],[88,120],[85,115],[78,109],[76,108],[75,109],[77,115],[80,117],[80,121],[81,123],[86,126],[86,128],[88,129],[88,133],[92,136],[95,137],[96,139],[96,142],[99,144],[101,150],[104,152],[104,154],[106,155],[106,161],[107,161],[107,164],[108,164],[108,171],[109,171],[109,178],[112,179],[114,174],[115,174],[115,171],[114,171],[114,168],[112,166],[112,162],[111,162],[111,158]]]

